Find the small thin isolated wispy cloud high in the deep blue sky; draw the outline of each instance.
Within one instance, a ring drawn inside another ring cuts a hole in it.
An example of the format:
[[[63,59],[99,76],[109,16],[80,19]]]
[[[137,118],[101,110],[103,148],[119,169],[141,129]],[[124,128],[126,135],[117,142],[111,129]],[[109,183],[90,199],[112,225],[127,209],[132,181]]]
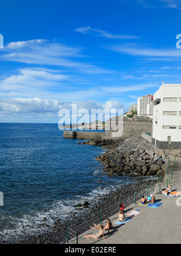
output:
[[[103,38],[112,38],[112,39],[138,39],[139,38],[139,36],[130,36],[125,34],[110,34],[104,30],[91,28],[89,26],[76,28],[75,31],[83,34],[90,34],[92,36],[101,36]]]

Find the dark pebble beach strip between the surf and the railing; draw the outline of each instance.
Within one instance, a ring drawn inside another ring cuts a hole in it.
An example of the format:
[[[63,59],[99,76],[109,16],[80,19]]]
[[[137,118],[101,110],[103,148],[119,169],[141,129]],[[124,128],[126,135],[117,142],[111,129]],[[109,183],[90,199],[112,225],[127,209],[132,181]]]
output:
[[[129,184],[116,188],[115,191],[110,191],[106,195],[97,195],[94,202],[84,202],[79,205],[83,206],[84,211],[78,214],[72,214],[66,222],[57,218],[54,225],[49,231],[35,236],[25,236],[21,239],[11,239],[10,241],[2,241],[1,243],[8,244],[60,244],[66,243],[67,227],[71,230],[71,234],[78,235],[89,229],[89,225],[100,223],[112,215],[118,213],[119,204],[123,203],[125,207],[131,205],[136,200],[141,199],[141,195],[151,194],[156,186],[157,179],[150,179],[135,184]],[[86,206],[86,207],[84,207]],[[75,205],[77,207],[77,205]],[[130,210],[130,209],[129,209]],[[101,217],[100,217],[101,216]],[[46,217],[42,220],[43,225],[46,225]]]

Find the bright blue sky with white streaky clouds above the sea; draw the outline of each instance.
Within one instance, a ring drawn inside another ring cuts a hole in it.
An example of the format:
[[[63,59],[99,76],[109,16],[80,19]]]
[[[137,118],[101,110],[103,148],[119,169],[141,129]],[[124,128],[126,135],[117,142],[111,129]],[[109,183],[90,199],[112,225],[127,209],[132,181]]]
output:
[[[7,0],[0,4],[0,122],[123,108],[181,81],[181,0]]]

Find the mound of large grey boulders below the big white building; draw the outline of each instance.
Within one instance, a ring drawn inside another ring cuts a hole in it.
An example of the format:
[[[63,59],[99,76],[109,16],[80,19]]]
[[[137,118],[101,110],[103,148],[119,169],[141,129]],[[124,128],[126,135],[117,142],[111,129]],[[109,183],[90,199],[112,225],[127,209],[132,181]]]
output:
[[[133,174],[135,176],[164,175],[168,155],[179,156],[181,150],[157,149],[142,137],[132,136],[98,156],[109,176]]]

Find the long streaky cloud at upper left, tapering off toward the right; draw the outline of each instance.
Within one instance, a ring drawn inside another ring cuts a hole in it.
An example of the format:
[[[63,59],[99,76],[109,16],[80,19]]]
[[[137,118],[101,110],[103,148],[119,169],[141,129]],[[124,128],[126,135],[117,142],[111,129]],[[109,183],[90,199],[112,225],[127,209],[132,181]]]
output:
[[[83,58],[83,48],[70,47],[56,41],[34,39],[28,41],[11,42],[5,45],[1,52],[2,61],[22,62],[28,65],[45,65],[63,67],[84,73],[109,73],[98,65],[87,64]]]

